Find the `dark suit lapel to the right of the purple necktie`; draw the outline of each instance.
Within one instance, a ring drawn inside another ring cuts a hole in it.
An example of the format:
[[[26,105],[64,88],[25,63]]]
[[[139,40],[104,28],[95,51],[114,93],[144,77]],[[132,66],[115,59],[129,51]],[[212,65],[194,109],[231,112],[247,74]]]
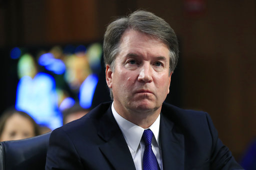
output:
[[[184,170],[184,136],[163,114],[160,118],[159,135],[163,170]]]

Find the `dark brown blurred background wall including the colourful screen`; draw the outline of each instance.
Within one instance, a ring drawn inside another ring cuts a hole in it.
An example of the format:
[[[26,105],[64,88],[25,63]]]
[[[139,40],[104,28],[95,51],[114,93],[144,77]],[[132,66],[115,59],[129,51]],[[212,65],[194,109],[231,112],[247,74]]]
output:
[[[179,39],[166,102],[208,112],[239,160],[256,137],[255,0],[0,0],[0,113],[15,105],[54,129],[61,109],[109,101],[103,33],[139,8]]]

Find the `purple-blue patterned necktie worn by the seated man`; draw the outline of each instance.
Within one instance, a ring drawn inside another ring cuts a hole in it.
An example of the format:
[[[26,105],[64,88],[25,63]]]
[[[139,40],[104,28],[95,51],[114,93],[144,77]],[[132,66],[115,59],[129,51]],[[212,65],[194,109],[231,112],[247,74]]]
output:
[[[142,140],[145,143],[143,170],[160,170],[151,146],[152,137],[153,133],[150,129],[144,130],[142,135]]]

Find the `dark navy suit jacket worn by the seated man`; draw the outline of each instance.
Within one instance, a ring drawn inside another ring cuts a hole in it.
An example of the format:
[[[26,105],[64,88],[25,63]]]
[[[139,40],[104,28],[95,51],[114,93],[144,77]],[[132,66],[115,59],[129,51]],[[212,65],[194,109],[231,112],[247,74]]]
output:
[[[46,170],[135,170],[111,103],[51,133]],[[163,104],[160,118],[163,170],[241,170],[218,139],[207,113]]]

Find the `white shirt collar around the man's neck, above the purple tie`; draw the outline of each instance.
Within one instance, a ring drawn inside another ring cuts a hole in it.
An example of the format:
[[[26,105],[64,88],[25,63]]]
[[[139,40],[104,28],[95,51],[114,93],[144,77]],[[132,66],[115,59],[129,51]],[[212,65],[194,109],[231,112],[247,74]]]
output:
[[[121,132],[124,136],[124,139],[127,145],[135,152],[139,146],[144,129],[121,117],[115,111],[113,103],[111,106],[111,110],[112,110],[115,121],[117,122],[119,128],[121,129]],[[157,117],[157,119],[154,121],[154,123],[148,128],[153,132],[154,138],[156,140],[158,147],[159,147],[159,125],[160,125],[160,114]]]

